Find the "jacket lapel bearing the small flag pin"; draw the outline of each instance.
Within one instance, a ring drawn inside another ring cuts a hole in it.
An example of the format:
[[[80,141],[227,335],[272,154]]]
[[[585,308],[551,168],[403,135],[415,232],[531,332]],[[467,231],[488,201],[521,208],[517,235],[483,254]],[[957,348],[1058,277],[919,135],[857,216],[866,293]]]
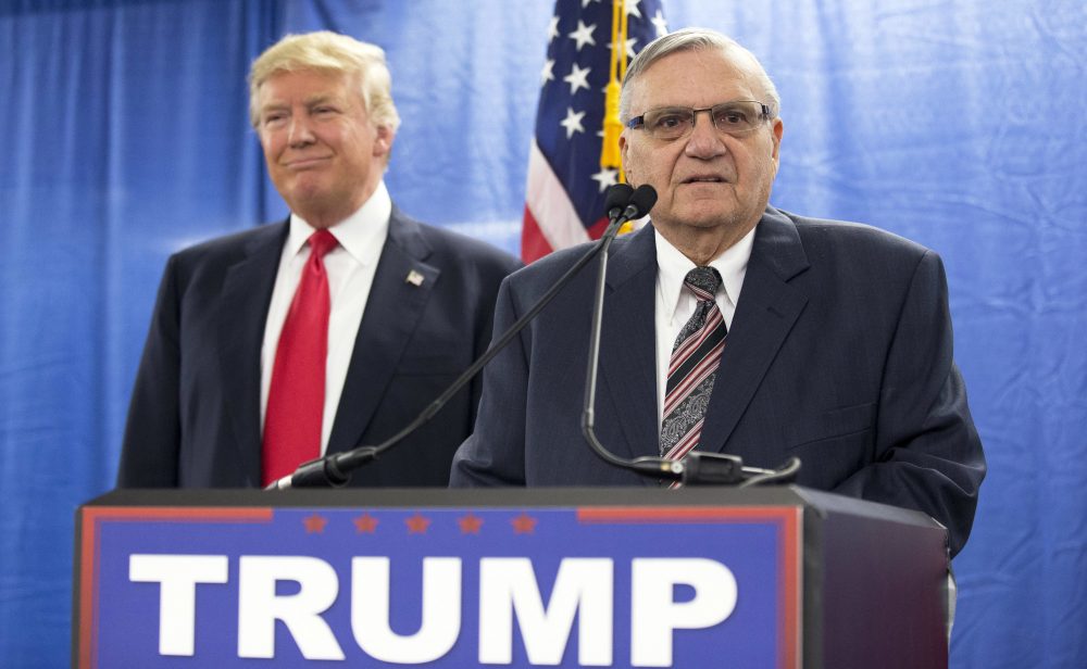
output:
[[[329,453],[358,445],[377,411],[441,274],[424,262],[429,255],[418,223],[393,207],[336,411]],[[423,277],[417,286],[407,280],[412,272]]]

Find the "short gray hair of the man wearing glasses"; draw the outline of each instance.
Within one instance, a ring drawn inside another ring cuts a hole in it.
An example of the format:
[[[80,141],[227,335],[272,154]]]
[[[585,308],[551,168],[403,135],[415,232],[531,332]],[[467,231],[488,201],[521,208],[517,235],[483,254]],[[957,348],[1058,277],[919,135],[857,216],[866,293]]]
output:
[[[634,56],[634,60],[630,61],[630,64],[626,68],[626,77],[623,79],[623,91],[620,93],[619,102],[620,118],[623,123],[625,124],[630,119],[632,84],[645,74],[650,65],[672,53],[710,49],[717,49],[734,61],[748,61],[748,64],[751,66],[751,74],[754,75],[755,80],[769,99],[762,102],[765,102],[770,108],[771,117],[776,117],[782,110],[782,99],[777,94],[777,87],[774,86],[774,83],[770,79],[770,75],[766,74],[766,71],[762,67],[762,63],[759,62],[759,59],[753,53],[741,47],[735,39],[722,35],[716,30],[709,28],[684,28],[658,37],[646,45],[646,48],[639,51],[638,55]]]

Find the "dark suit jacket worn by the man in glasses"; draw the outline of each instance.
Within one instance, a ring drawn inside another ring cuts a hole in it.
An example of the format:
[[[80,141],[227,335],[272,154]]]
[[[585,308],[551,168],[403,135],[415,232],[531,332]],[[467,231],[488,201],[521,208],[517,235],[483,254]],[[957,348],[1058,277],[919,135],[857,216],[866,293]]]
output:
[[[623,457],[659,455],[653,235],[647,226],[620,238],[608,265],[596,426]],[[496,331],[583,252],[510,276]],[[582,437],[595,277],[583,272],[486,370],[452,484],[654,484],[609,466]],[[767,207],[700,449],[767,468],[798,456],[799,484],[923,510],[949,528],[958,552],[985,460],[951,340],[935,253],[867,226]]]

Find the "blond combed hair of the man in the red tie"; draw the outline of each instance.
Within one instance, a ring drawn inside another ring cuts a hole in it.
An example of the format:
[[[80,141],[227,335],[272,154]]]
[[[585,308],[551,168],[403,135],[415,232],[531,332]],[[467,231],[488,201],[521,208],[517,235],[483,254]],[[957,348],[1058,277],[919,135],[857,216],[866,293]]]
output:
[[[249,122],[254,128],[260,123],[261,86],[277,73],[299,70],[358,77],[359,94],[371,122],[392,132],[400,127],[385,50],[347,35],[320,30],[286,35],[253,61],[249,68]]]

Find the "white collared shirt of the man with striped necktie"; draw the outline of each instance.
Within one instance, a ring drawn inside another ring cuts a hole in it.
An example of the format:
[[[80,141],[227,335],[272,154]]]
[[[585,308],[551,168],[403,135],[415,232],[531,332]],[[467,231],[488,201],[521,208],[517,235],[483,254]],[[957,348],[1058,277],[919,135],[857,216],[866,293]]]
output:
[[[679,330],[694,315],[698,300],[690,290],[684,290],[684,277],[696,267],[695,263],[669,243],[660,232],[655,232],[653,238],[657,240],[657,432],[660,434],[661,422],[664,419],[664,394],[669,382],[672,348],[675,345],[676,337],[679,336]],[[753,242],[754,228],[751,228],[742,239],[710,261],[710,267],[721,274],[721,289],[717,290],[714,301],[729,330],[733,327],[733,315],[740,299],[740,288],[747,275]]]

